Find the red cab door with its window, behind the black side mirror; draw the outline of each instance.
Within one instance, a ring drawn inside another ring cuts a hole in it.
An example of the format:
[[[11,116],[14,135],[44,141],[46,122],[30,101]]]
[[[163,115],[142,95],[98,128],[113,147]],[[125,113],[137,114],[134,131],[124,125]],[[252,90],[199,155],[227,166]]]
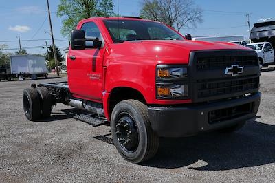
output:
[[[83,23],[81,29],[85,31],[86,38],[102,36],[94,22]],[[92,45],[86,41],[86,45]],[[67,56],[69,89],[77,98],[102,101],[103,92],[103,55],[104,48],[87,48],[85,50],[69,49]]]

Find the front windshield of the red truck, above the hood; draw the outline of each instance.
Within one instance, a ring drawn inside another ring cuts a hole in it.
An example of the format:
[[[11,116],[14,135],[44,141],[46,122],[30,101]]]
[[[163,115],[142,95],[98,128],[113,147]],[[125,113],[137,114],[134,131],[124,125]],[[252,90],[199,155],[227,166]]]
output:
[[[106,20],[104,21],[113,43],[135,40],[184,40],[166,25],[151,21]]]

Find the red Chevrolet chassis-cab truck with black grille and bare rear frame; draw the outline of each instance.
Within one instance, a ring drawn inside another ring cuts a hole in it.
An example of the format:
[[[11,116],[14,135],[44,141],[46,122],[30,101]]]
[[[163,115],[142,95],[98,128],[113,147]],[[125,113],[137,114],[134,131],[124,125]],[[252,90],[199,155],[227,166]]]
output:
[[[190,39],[190,36],[186,36]],[[28,120],[50,116],[56,103],[110,125],[122,157],[152,158],[159,137],[231,132],[256,116],[260,67],[254,50],[232,43],[190,41],[163,23],[96,17],[72,31],[68,81],[23,91]]]

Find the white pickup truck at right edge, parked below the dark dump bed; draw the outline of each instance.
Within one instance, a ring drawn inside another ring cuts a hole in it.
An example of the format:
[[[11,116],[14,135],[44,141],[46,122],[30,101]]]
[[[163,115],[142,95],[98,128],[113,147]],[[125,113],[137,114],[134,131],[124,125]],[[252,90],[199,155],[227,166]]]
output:
[[[251,43],[245,46],[257,52],[262,67],[274,64],[274,49],[270,42]]]

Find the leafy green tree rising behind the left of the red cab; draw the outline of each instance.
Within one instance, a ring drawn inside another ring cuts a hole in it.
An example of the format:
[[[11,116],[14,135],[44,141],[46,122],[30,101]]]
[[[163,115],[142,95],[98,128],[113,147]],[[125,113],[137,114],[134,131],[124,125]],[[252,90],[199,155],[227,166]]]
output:
[[[112,16],[112,0],[60,0],[57,16],[64,17],[61,34],[69,36],[81,19]]]

